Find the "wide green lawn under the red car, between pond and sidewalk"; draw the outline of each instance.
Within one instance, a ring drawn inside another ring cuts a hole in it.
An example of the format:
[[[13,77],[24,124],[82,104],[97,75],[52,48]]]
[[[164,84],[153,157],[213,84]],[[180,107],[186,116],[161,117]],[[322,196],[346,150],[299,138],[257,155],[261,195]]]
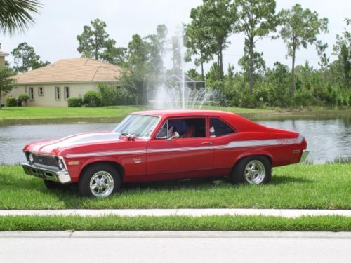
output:
[[[129,184],[109,198],[83,198],[74,187],[46,189],[20,166],[0,166],[0,209],[64,208],[351,209],[351,169],[343,163],[297,164],[274,168],[267,185],[226,180]]]

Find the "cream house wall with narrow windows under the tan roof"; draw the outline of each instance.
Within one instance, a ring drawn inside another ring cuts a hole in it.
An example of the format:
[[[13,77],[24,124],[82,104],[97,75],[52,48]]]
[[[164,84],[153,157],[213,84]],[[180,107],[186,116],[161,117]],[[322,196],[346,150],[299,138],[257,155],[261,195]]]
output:
[[[67,91],[68,97],[83,97],[89,90],[97,91],[98,83],[17,84],[16,88],[3,98],[2,104],[6,104],[6,97],[18,97],[20,93],[27,93],[29,97],[32,95],[27,106],[67,107]]]

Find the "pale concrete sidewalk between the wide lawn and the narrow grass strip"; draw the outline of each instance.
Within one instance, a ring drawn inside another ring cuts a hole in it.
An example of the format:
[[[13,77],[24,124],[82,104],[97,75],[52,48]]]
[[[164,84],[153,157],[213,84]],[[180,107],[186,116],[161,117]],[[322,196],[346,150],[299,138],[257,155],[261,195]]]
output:
[[[275,217],[301,217],[340,215],[351,217],[351,210],[307,210],[307,209],[66,209],[66,210],[0,210],[0,216],[38,215],[38,216],[90,216],[116,215],[126,217],[138,216],[192,216],[210,215],[264,215]]]

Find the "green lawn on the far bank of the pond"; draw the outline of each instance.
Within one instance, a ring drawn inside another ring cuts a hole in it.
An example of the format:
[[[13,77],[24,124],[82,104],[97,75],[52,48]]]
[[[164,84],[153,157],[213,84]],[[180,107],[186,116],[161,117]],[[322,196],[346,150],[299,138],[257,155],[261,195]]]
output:
[[[80,121],[81,119],[116,119],[120,120],[131,112],[147,109],[146,106],[114,106],[95,108],[69,108],[69,107],[4,107],[0,110],[1,121],[38,121],[54,119],[56,121]],[[272,112],[266,109],[245,109],[235,107],[204,107],[204,109],[220,109],[236,113],[263,113]]]

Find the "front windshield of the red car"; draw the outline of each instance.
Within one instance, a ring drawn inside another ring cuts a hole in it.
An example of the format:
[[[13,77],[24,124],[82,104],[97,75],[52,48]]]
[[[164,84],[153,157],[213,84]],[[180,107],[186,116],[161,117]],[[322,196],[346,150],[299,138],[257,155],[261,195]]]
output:
[[[158,121],[159,117],[157,116],[131,114],[119,123],[117,128],[114,129],[114,133],[127,136],[134,135],[135,137],[149,137]]]

